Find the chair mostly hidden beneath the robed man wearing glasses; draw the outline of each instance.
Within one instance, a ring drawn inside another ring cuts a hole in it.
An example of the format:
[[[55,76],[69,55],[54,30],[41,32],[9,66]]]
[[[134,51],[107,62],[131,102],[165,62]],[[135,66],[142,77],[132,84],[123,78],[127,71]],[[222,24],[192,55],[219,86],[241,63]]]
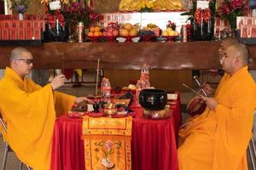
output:
[[[6,126],[5,122],[3,122],[1,113],[0,113],[0,124],[3,127],[3,130],[6,133],[8,133],[7,126]],[[7,156],[8,156],[8,153],[11,152],[11,151],[13,151],[13,150],[10,148],[9,144],[6,142],[5,146],[4,146],[2,170],[5,170],[5,168],[6,168]],[[21,170],[22,167],[23,167],[23,163],[22,163],[22,161],[20,161],[19,170]],[[32,170],[32,168],[28,167],[27,165],[26,165],[26,168],[27,168],[27,170]]]

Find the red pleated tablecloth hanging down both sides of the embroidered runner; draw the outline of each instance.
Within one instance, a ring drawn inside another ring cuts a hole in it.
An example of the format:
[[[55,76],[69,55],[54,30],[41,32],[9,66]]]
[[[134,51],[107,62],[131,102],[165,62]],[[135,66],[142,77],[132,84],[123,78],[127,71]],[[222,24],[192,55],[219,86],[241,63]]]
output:
[[[143,118],[141,107],[132,122],[131,160],[133,170],[177,170],[177,131],[181,125],[180,99],[172,101],[173,114],[166,120]],[[55,121],[51,170],[84,170],[82,118],[61,116]]]

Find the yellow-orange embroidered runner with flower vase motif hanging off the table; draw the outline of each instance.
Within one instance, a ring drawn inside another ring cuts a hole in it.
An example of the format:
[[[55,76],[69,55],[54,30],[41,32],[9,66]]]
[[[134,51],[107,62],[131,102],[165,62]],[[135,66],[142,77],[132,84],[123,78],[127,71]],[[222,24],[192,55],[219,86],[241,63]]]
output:
[[[85,169],[131,170],[131,127],[131,116],[84,116]]]

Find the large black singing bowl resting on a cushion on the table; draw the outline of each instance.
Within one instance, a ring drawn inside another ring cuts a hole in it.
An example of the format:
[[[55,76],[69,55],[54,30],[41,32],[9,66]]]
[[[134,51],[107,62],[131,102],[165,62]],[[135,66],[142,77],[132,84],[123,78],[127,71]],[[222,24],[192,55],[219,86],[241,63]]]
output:
[[[143,89],[139,94],[139,103],[148,110],[162,110],[167,103],[167,94],[161,89]]]

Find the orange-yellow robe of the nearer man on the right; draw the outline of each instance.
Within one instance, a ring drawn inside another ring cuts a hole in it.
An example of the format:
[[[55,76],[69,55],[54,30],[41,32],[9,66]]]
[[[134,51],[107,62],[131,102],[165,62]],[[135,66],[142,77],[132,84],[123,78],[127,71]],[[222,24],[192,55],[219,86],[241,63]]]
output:
[[[179,131],[180,170],[246,170],[256,88],[247,66],[225,74],[215,94],[218,105]]]

